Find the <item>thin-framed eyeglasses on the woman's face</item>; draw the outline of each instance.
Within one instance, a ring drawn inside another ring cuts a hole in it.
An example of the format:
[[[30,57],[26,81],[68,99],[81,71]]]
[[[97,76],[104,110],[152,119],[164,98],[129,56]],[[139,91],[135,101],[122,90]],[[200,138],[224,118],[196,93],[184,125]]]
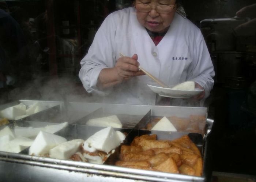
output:
[[[138,3],[134,5],[135,5],[135,8],[142,13],[148,13],[151,11],[152,8],[154,8],[160,14],[169,14],[175,8],[175,5],[163,5],[163,4],[151,6],[150,4],[146,4],[146,3]]]

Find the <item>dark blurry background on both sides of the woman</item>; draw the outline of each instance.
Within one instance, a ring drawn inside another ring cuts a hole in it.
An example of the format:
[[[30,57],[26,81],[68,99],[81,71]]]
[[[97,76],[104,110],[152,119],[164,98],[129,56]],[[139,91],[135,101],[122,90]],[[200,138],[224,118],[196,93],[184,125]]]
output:
[[[256,174],[254,3],[182,2],[187,18],[201,29],[215,68],[214,89],[205,102],[215,108],[214,171]],[[0,0],[0,104],[95,101],[78,78],[80,60],[104,18],[130,5],[130,0]]]

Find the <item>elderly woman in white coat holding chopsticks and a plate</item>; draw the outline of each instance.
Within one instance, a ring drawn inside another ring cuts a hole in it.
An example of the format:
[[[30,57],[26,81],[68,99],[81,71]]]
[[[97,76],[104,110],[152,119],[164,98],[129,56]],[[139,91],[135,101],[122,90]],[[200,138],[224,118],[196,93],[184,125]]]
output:
[[[154,81],[138,66],[169,85],[194,81],[206,98],[214,68],[200,29],[176,12],[175,0],[135,0],[111,13],[81,61],[79,78],[103,102],[155,105]],[[120,56],[120,53],[125,55]]]

